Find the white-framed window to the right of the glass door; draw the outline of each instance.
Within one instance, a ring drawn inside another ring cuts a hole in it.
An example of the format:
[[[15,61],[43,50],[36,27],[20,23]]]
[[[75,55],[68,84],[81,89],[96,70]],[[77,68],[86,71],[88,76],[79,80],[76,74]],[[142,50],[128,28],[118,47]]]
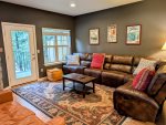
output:
[[[42,29],[44,64],[53,64],[65,61],[71,53],[70,30]]]

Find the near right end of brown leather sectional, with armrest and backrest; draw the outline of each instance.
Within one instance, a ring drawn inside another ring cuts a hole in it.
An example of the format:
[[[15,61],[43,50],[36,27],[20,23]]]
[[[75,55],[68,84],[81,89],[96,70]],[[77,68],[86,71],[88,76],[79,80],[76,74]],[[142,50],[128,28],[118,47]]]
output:
[[[115,110],[133,118],[155,122],[166,98],[166,65],[160,66],[146,92],[132,87],[132,81],[114,92]]]

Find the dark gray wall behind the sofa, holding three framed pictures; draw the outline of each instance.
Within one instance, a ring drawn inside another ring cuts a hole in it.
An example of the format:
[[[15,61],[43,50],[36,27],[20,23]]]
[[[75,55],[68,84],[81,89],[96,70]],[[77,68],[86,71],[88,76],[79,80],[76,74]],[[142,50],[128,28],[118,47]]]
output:
[[[117,24],[117,43],[107,43],[107,27]],[[126,25],[142,24],[142,44],[126,45]],[[89,44],[89,29],[100,28],[100,45]],[[79,15],[75,19],[77,52],[154,55],[166,41],[166,0],[143,2]],[[157,54],[158,55],[158,54]]]

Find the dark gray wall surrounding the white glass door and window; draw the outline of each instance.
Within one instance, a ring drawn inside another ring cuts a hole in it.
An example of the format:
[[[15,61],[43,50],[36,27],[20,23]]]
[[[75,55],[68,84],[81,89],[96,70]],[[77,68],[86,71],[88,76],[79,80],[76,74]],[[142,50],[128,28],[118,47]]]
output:
[[[74,49],[74,18],[73,17],[10,4],[6,2],[0,2],[0,21],[35,25],[37,44],[38,44],[38,49],[41,52],[40,54],[38,54],[39,69],[44,69],[44,72],[40,72],[39,70],[40,77],[45,76],[45,66],[43,65],[44,60],[43,60],[42,31],[41,31],[43,27],[71,30],[72,48]],[[1,24],[0,24],[0,46],[3,48]],[[2,79],[6,87],[8,86],[8,74],[7,74],[4,52],[0,53],[0,55],[2,58],[2,71],[3,71]]]

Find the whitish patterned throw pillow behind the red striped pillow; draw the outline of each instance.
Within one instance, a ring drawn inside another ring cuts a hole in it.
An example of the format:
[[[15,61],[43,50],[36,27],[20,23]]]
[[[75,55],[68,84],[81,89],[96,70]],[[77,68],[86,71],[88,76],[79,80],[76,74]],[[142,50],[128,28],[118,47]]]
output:
[[[149,67],[152,70],[155,70],[156,64],[157,64],[157,61],[141,59],[139,64],[136,67],[136,70],[134,71],[133,74],[136,75],[137,73],[139,73],[145,67]]]

